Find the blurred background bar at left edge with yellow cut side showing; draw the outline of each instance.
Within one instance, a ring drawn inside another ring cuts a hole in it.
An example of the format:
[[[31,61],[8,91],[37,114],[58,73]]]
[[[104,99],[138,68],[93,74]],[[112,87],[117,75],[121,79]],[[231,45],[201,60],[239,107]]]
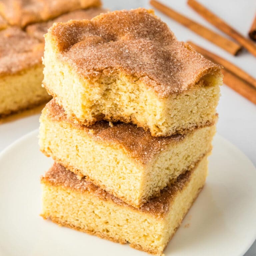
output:
[[[17,27],[0,31],[0,117],[50,100],[42,87],[43,47]]]

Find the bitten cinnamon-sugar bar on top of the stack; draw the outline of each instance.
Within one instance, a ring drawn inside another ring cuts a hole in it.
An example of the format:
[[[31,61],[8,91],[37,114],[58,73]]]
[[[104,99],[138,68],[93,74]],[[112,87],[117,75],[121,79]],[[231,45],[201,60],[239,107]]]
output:
[[[45,42],[44,87],[84,125],[132,122],[169,136],[213,123],[221,67],[177,41],[153,11],[57,23]]]

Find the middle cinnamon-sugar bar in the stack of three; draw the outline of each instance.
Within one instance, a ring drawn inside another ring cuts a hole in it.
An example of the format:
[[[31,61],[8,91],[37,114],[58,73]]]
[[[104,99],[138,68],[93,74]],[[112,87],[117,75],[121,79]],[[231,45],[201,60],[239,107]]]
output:
[[[41,151],[79,176],[139,207],[211,151],[215,125],[153,137],[133,124],[68,119],[54,100],[40,117]]]

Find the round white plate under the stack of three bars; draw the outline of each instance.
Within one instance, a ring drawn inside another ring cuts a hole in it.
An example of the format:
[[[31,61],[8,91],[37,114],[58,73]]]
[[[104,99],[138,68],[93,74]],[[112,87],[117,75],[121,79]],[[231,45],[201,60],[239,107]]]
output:
[[[43,220],[40,175],[52,160],[40,151],[38,130],[0,155],[0,255],[148,255]],[[166,255],[242,256],[256,238],[256,169],[216,135],[207,183],[168,244]]]

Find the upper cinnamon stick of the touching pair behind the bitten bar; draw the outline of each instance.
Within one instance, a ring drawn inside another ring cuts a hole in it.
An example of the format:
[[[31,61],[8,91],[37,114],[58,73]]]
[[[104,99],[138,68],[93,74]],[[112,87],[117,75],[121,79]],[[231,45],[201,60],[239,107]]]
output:
[[[234,75],[240,77],[241,79],[243,79],[245,82],[251,84],[253,87],[255,87],[256,89],[256,79],[253,78],[252,76],[250,76],[248,73],[246,73],[244,70],[240,69],[239,67],[237,67],[236,65],[234,65],[233,63],[221,58],[220,56],[207,51],[206,49],[188,41],[188,43],[195,48],[195,50],[199,53],[201,53],[204,56],[209,57],[211,60],[213,60],[213,62],[222,65],[226,70],[232,72]]]

